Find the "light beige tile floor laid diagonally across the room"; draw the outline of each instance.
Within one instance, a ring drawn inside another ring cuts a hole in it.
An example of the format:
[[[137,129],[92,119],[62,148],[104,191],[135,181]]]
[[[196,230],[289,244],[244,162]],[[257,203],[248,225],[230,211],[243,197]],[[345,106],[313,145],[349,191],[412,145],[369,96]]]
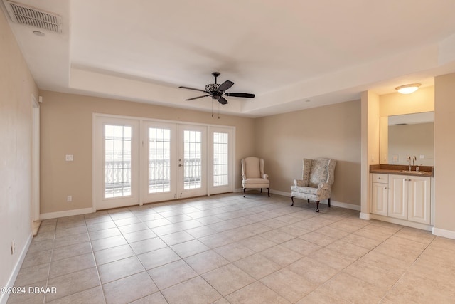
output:
[[[45,220],[8,303],[454,303],[455,241],[259,192]]]

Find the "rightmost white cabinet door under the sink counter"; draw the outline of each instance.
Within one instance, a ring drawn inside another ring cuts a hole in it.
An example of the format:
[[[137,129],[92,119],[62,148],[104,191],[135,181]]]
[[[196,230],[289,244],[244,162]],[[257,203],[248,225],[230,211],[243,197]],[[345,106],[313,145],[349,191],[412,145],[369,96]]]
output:
[[[422,224],[430,224],[430,178],[408,177],[409,198],[407,202],[408,219]]]

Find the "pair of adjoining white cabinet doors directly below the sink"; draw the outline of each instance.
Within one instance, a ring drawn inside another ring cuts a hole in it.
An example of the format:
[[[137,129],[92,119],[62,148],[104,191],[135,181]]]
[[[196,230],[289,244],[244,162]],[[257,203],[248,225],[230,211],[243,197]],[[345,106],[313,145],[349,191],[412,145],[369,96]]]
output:
[[[389,175],[388,216],[430,224],[430,177]]]

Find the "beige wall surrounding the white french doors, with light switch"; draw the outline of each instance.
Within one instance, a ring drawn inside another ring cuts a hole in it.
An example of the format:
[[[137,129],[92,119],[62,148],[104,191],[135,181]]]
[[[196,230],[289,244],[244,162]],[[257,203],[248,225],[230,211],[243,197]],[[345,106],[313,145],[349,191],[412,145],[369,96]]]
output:
[[[92,113],[228,125],[236,128],[235,187],[240,159],[255,154],[255,120],[145,103],[41,91],[41,214],[92,207]],[[208,103],[208,107],[210,103]],[[65,155],[73,154],[73,162]],[[67,195],[73,201],[66,201]]]

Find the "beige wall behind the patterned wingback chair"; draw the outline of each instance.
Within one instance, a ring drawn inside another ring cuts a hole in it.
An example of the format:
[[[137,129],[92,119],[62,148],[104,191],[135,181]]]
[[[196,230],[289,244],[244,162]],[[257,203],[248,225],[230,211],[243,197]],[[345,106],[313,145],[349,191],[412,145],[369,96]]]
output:
[[[256,119],[255,146],[270,187],[291,192],[302,159],[337,160],[332,199],[360,205],[360,100]]]

